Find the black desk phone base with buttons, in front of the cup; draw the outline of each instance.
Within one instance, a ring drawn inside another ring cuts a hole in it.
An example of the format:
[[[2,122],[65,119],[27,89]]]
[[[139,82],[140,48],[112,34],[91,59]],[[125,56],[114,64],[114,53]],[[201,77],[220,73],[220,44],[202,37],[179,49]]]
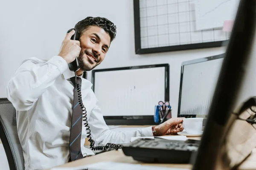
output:
[[[123,153],[134,160],[147,163],[188,164],[193,153],[197,152],[200,141],[176,141],[154,137],[140,138],[124,144]]]

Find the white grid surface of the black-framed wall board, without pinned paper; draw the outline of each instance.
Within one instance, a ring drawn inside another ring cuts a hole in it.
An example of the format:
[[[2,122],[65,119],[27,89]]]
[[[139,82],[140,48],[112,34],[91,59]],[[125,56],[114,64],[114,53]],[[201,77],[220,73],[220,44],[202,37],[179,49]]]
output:
[[[229,39],[221,28],[196,31],[194,0],[140,0],[141,48]]]

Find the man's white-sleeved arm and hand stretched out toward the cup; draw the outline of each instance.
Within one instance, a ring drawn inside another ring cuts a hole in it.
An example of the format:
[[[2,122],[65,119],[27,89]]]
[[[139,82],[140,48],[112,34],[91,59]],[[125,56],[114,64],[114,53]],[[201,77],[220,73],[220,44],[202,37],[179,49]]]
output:
[[[174,135],[183,131],[184,118],[172,118],[155,127],[157,136]],[[106,125],[101,110],[96,103],[96,107],[92,110],[88,123],[91,130],[91,136],[95,143],[105,145],[107,143],[125,144],[131,141],[131,137],[153,136],[152,127],[138,128],[133,131],[114,132]]]

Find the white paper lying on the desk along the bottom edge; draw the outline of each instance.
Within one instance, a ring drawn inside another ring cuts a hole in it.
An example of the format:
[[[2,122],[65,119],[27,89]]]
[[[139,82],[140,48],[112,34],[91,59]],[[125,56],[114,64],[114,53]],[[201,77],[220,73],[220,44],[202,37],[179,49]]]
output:
[[[88,168],[88,170],[188,170],[181,168],[145,166],[140,164],[128,164],[111,161],[88,164],[87,166],[83,167],[53,168],[51,170],[84,170],[86,168]]]

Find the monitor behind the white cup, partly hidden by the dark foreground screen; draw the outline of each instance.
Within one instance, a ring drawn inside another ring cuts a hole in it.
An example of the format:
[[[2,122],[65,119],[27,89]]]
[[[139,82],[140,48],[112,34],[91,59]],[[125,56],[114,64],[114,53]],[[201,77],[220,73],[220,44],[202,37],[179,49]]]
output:
[[[182,62],[178,117],[207,117],[224,54]]]

